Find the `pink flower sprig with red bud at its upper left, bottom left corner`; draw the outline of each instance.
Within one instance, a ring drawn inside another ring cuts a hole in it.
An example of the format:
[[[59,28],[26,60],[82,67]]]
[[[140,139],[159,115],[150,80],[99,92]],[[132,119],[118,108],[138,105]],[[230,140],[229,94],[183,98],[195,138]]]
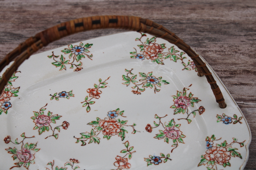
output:
[[[26,138],[33,138],[33,137],[26,137],[25,133],[22,133],[20,135],[21,137],[23,137],[23,140],[18,142],[18,138],[15,139],[15,141],[13,142],[11,140],[10,136],[7,136],[4,138],[4,142],[6,144],[9,144],[10,142],[13,144],[21,144],[21,150],[17,150],[17,148],[11,148],[9,147],[8,149],[5,149],[6,151],[8,151],[8,153],[13,154],[12,158],[13,160],[18,159],[19,162],[14,163],[15,166],[12,166],[10,169],[14,168],[14,167],[21,167],[22,165],[28,169],[28,167],[30,166],[30,164],[35,164],[35,153],[38,152],[40,149],[36,149],[36,144],[24,144],[24,140]]]

